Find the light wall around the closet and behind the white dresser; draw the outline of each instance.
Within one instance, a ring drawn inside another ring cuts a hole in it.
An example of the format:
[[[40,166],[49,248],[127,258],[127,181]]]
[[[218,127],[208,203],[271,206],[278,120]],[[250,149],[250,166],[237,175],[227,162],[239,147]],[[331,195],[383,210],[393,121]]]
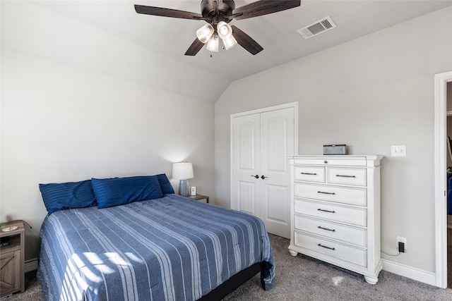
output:
[[[215,104],[217,203],[230,201],[230,114],[299,102],[299,154],[385,156],[382,249],[396,254],[399,235],[407,252],[383,258],[434,273],[434,74],[452,70],[451,37],[449,7],[233,82]]]

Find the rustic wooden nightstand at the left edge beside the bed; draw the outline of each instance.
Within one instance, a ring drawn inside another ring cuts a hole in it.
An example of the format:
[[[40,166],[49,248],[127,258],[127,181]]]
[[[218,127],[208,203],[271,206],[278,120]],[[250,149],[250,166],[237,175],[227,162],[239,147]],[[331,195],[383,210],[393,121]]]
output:
[[[17,227],[13,231],[4,231]],[[0,247],[0,290],[1,295],[25,291],[25,227],[23,221],[1,223],[0,238],[9,238],[9,245]]]

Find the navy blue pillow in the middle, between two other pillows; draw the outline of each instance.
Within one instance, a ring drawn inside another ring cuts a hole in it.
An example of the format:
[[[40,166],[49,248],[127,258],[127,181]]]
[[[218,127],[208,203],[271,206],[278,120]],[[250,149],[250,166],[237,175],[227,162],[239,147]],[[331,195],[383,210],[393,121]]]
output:
[[[163,197],[156,176],[91,179],[99,208]]]

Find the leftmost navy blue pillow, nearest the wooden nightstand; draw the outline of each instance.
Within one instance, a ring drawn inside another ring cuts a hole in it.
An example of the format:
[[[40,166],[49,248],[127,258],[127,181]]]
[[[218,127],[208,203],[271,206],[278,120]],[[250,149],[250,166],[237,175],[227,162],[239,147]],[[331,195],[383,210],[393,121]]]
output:
[[[91,180],[40,184],[40,190],[49,215],[59,210],[97,205]]]

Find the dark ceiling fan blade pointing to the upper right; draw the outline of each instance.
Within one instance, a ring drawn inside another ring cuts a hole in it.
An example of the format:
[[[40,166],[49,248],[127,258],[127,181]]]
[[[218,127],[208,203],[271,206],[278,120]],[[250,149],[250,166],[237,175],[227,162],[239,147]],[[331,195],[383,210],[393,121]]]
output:
[[[242,16],[235,18],[235,20],[242,20],[268,15],[269,13],[276,13],[278,11],[285,11],[286,9],[300,6],[300,3],[301,0],[261,0],[240,6],[239,8],[234,9],[232,13],[242,13]]]

